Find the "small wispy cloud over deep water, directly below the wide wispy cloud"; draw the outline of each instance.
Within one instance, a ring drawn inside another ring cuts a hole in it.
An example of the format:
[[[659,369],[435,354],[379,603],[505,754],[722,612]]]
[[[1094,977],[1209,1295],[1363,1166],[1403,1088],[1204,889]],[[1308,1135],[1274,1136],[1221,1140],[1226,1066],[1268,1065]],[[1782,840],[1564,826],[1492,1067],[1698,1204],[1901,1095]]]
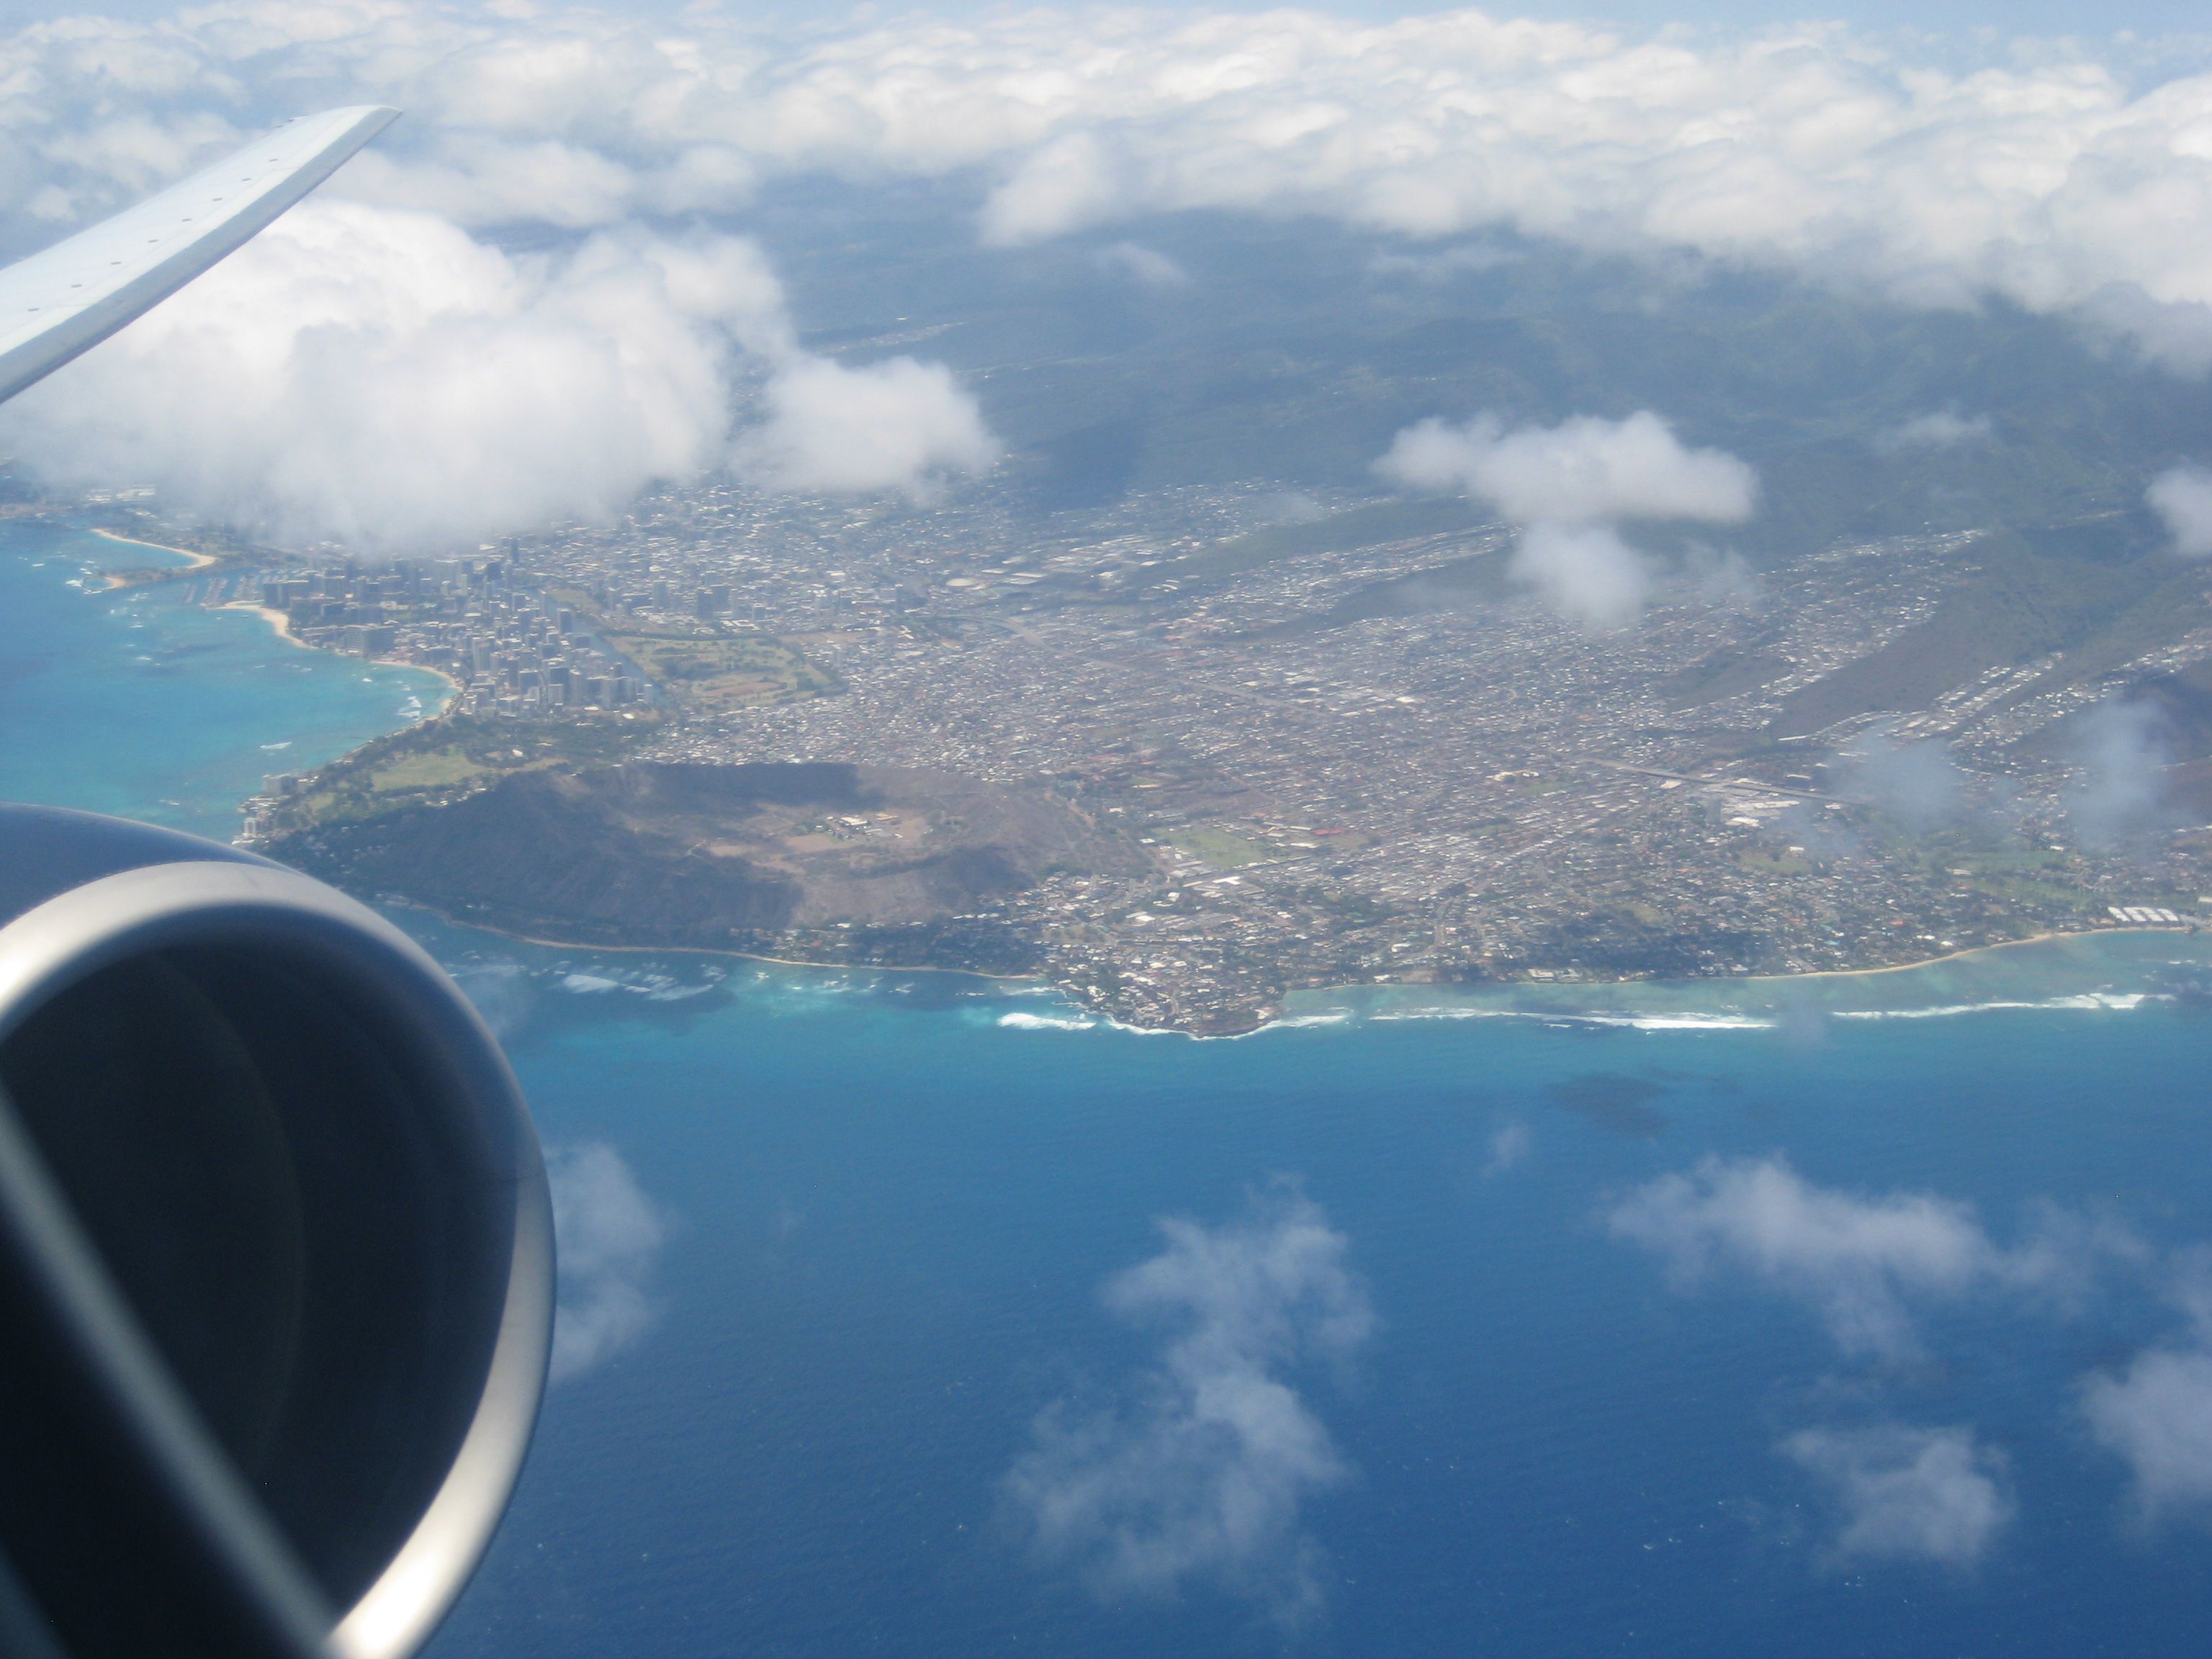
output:
[[[2017,1513],[2004,1455],[1971,1429],[1805,1429],[1781,1451],[1843,1511],[1838,1562],[1975,1566]]]

